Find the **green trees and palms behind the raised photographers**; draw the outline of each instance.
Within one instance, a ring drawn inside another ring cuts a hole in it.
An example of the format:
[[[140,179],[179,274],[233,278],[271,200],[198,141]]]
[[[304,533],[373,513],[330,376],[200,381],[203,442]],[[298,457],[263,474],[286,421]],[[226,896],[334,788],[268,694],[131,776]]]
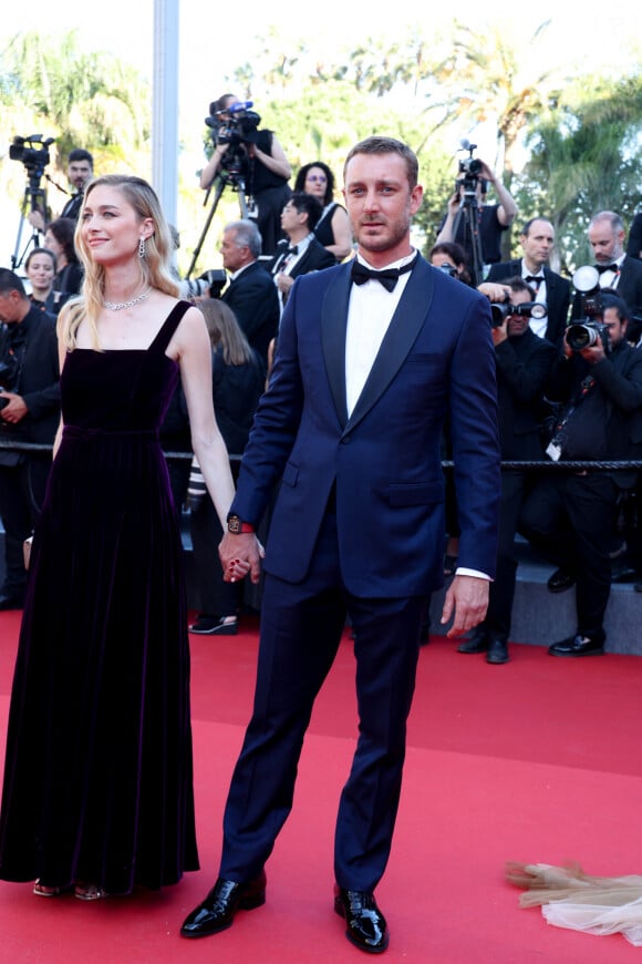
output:
[[[338,43],[321,53],[311,41],[281,40],[272,29],[249,40],[218,93],[227,88],[255,101],[261,126],[277,133],[294,173],[322,160],[339,186],[345,154],[362,137],[385,133],[411,144],[425,188],[415,228],[426,248],[453,189],[459,137],[486,132],[495,156],[486,158],[486,148],[483,156],[516,197],[518,224],[534,214],[550,217],[561,252],[556,266],[571,270],[589,256],[592,214],[615,209],[629,222],[642,204],[642,80],[639,64],[617,81],[591,74],[590,58],[579,72],[565,58],[546,66],[548,32],[547,22],[526,37],[521,24],[512,32],[505,23],[479,30],[443,18],[404,39],[366,37],[359,48]],[[60,157],[75,145],[94,153],[100,171],[149,171],[151,93],[135,70],[81,49],[73,32],[62,43],[38,33],[15,37],[0,64],[6,142],[33,131],[54,136],[52,173],[61,178]],[[209,131],[204,147],[211,148]],[[7,167],[2,189],[19,197],[23,172]],[[187,176],[190,183],[179,185],[182,258],[205,219],[204,195],[194,172]],[[210,253],[221,223],[237,214],[237,199],[224,197]],[[514,230],[515,252],[517,236]],[[210,266],[211,254],[205,257]]]

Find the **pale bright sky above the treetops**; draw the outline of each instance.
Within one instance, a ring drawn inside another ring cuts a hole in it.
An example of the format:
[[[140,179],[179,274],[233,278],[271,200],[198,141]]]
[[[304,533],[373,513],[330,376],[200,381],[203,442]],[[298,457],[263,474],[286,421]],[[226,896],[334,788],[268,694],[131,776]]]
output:
[[[379,11],[374,8],[379,7]],[[77,30],[79,37],[93,50],[107,50],[135,64],[152,76],[154,47],[154,0],[108,0],[96,7],[77,0],[30,0],[8,3],[0,21],[0,39],[25,30],[37,30],[52,37]],[[547,31],[547,49],[553,62],[570,57],[583,63],[609,64],[618,69],[630,58],[639,23],[638,0],[618,0],[604,17],[604,4],[583,0],[581,7],[560,0],[540,0],[535,10],[515,0],[457,0],[453,4],[428,4],[426,0],[404,0],[397,9],[403,18],[394,19],[394,4],[365,6],[364,0],[318,0],[303,4],[304,19],[297,19],[297,4],[279,4],[266,0],[244,0],[242,3],[206,3],[204,0],[179,0],[180,95],[182,113],[194,113],[203,123],[203,107],[220,92],[226,74],[247,59],[253,37],[267,35],[273,27],[283,49],[303,38],[320,55],[333,58],[338,50],[354,47],[370,37],[394,39],[405,35],[414,24],[428,33],[431,23],[457,19],[478,27],[483,43],[484,27],[501,23],[509,35],[521,39],[525,55],[529,54],[529,38],[535,29],[551,20]],[[572,8],[572,9],[571,9]],[[157,10],[162,9],[159,2]],[[103,11],[108,10],[108,17]],[[187,100],[184,100],[187,98]],[[206,111],[207,113],[207,111]]]

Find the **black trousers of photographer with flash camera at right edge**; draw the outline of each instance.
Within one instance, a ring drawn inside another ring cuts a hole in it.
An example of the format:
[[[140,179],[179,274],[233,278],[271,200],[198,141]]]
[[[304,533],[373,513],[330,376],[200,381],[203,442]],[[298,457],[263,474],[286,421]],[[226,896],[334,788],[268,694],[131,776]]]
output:
[[[556,472],[537,482],[520,529],[534,548],[576,576],[577,632],[602,636],[611,592],[610,536],[620,489],[602,472]]]

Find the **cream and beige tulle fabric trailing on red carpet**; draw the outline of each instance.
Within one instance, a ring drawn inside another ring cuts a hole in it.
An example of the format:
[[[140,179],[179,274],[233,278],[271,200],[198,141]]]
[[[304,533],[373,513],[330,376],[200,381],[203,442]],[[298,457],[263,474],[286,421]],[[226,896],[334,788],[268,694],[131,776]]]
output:
[[[541,905],[549,924],[589,934],[623,934],[642,947],[642,876],[590,876],[576,865],[508,863],[506,878],[525,888],[519,905]]]

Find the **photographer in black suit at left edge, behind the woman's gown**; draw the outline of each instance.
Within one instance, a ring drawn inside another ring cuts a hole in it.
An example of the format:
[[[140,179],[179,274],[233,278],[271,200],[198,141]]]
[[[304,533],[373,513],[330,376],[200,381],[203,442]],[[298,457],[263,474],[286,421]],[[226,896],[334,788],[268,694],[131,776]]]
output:
[[[0,268],[0,439],[51,445],[60,420],[55,318],[31,304],[22,281],[8,268]],[[0,449],[0,609],[22,607],[22,546],[40,512],[50,466],[50,452]]]

